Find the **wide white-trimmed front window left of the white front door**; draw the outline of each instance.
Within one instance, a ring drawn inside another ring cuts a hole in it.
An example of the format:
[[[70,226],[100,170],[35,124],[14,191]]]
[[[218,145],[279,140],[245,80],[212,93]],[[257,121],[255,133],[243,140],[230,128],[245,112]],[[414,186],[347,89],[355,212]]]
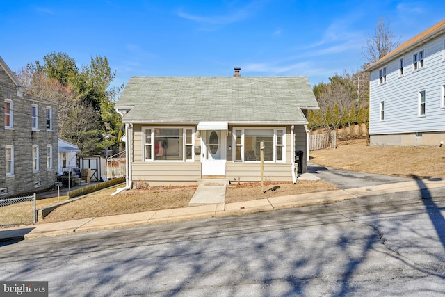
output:
[[[143,127],[143,161],[193,161],[194,127]]]

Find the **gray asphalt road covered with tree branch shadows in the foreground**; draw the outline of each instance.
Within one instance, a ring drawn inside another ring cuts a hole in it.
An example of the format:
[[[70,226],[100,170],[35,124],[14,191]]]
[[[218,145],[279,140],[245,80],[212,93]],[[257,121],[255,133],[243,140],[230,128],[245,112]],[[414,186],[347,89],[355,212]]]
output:
[[[421,181],[419,181],[421,186]],[[1,243],[49,296],[443,296],[444,189]]]

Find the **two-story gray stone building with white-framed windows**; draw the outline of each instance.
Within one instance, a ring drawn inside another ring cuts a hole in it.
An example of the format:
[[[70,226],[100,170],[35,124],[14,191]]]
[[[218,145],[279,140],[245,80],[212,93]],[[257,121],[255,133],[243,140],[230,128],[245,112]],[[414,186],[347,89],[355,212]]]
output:
[[[56,182],[58,103],[25,91],[0,57],[0,198],[42,191]]]

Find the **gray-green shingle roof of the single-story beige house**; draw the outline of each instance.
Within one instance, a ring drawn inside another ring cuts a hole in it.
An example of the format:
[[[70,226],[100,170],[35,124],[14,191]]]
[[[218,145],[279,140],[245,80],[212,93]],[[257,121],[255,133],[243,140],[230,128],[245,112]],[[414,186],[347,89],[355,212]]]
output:
[[[116,109],[133,123],[305,123],[307,77],[131,77]]]

